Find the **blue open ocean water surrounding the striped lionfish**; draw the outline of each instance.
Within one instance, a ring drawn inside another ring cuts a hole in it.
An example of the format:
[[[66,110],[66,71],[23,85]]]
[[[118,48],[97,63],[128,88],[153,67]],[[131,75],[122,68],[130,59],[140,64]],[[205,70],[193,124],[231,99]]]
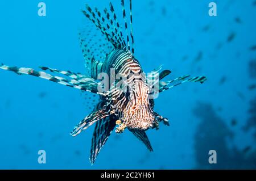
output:
[[[0,62],[83,73],[78,30],[85,3],[104,1],[0,1]],[[119,1],[112,1],[116,10]],[[0,70],[0,169],[256,169],[256,1],[222,0],[209,16],[206,0],[133,1],[135,56],[146,72],[205,75],[162,92],[155,111],[170,127],[147,131],[151,153],[129,131],[112,133],[89,162],[93,127],[69,132],[97,97],[43,79]],[[118,13],[118,16],[121,14]],[[46,164],[38,163],[46,151]],[[209,150],[217,163],[209,164]]]

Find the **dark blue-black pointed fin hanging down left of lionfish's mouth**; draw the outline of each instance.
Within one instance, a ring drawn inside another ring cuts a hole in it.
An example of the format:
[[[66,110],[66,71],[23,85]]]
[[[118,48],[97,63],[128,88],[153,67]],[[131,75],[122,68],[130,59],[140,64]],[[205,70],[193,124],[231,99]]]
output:
[[[92,137],[92,146],[90,148],[90,163],[95,162],[101,148],[106,144],[110,134],[115,127],[115,121],[110,117],[105,117],[96,122]]]

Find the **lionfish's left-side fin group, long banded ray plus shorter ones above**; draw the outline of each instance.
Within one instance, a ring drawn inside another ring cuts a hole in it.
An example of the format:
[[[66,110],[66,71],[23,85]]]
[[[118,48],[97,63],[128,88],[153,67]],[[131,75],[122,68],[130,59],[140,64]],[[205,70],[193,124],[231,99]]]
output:
[[[75,89],[80,89],[82,91],[89,91],[89,92],[103,95],[103,93],[97,91],[98,83],[92,78],[86,77],[85,75],[81,75],[81,74],[75,74],[75,73],[72,73],[71,71],[60,71],[57,69],[51,69],[46,67],[40,67],[40,68],[43,70],[50,70],[55,73],[61,73],[61,74],[67,75],[69,79],[51,75],[44,71],[36,71],[31,68],[19,68],[17,66],[7,66],[4,64],[0,66],[0,69],[13,71],[14,73],[19,75],[22,75],[22,74],[33,75],[35,77],[47,79],[49,81],[56,82],[68,87],[73,87]]]

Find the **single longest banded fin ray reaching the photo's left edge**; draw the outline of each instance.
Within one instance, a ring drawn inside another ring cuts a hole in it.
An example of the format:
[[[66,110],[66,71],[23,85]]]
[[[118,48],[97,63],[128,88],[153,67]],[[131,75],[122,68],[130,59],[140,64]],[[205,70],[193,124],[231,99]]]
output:
[[[89,77],[88,77],[88,80],[89,80],[88,82],[86,82],[86,79],[84,79],[85,80],[84,82],[79,82],[76,79],[68,80],[68,79],[65,79],[63,77],[58,77],[58,76],[48,74],[44,71],[36,71],[34,69],[31,69],[31,68],[18,68],[16,66],[11,67],[11,66],[7,66],[7,65],[2,64],[0,66],[0,69],[14,71],[14,73],[19,74],[19,75],[22,75],[22,74],[33,75],[35,77],[40,77],[40,78],[43,78],[43,79],[47,79],[49,81],[56,82],[56,83],[59,83],[61,85],[65,85],[65,86],[68,86],[68,87],[73,87],[73,88],[76,88],[76,89],[80,89],[82,91],[89,91],[89,92],[93,92],[93,93],[96,93],[96,94],[99,94],[99,95],[104,95],[104,94],[97,91],[98,83],[93,82],[93,79],[89,78]]]

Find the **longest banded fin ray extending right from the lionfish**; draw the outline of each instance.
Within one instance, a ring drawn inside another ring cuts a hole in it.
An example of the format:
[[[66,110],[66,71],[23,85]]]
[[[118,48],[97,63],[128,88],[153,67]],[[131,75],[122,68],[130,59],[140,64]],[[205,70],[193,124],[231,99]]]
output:
[[[200,83],[204,83],[207,78],[204,76],[198,76],[198,77],[193,77],[193,78],[189,78],[190,75],[184,75],[181,77],[178,77],[176,79],[173,79],[172,81],[168,81],[168,82],[159,82],[159,92],[162,91],[166,91],[168,89],[171,89],[172,87],[181,85],[184,82],[200,82]],[[172,83],[175,83],[174,85],[171,85]]]

